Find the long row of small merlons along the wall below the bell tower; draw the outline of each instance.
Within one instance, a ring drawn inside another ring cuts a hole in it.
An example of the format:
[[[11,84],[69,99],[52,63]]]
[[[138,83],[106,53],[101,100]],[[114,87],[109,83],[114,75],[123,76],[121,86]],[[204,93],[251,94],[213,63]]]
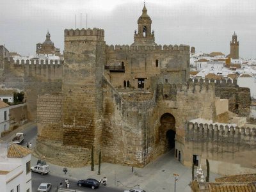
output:
[[[106,45],[107,51],[189,51],[189,45],[154,45],[154,46],[136,46],[136,45]]]

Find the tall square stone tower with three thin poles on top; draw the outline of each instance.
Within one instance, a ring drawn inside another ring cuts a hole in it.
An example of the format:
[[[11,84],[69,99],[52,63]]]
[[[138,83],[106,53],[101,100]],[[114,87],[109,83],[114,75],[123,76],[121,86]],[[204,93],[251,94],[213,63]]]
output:
[[[99,149],[102,135],[103,29],[65,29],[63,144]]]

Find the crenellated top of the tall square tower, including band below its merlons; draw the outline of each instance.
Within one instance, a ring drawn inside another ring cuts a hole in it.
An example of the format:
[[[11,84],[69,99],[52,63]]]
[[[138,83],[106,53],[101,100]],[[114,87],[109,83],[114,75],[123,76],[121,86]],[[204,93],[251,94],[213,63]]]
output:
[[[104,29],[65,29],[64,37],[65,42],[83,40],[94,40],[104,42]]]

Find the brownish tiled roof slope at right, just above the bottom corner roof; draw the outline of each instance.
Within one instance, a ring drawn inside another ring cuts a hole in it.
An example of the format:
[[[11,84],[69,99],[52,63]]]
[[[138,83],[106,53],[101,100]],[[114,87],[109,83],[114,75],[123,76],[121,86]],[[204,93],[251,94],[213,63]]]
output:
[[[256,182],[255,174],[230,175],[215,179],[216,182]]]

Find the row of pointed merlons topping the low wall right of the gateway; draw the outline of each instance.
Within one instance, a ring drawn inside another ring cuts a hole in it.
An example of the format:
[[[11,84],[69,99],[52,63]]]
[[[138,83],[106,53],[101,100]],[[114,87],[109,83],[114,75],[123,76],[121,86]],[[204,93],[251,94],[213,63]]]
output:
[[[199,134],[200,136],[195,136]],[[256,141],[256,125],[250,127],[237,127],[232,124],[204,124],[200,122],[189,122],[186,124],[186,140],[206,141],[213,139],[214,141],[224,141],[223,138],[239,138],[232,142],[246,141],[255,143]],[[230,140],[231,141],[231,140]]]

